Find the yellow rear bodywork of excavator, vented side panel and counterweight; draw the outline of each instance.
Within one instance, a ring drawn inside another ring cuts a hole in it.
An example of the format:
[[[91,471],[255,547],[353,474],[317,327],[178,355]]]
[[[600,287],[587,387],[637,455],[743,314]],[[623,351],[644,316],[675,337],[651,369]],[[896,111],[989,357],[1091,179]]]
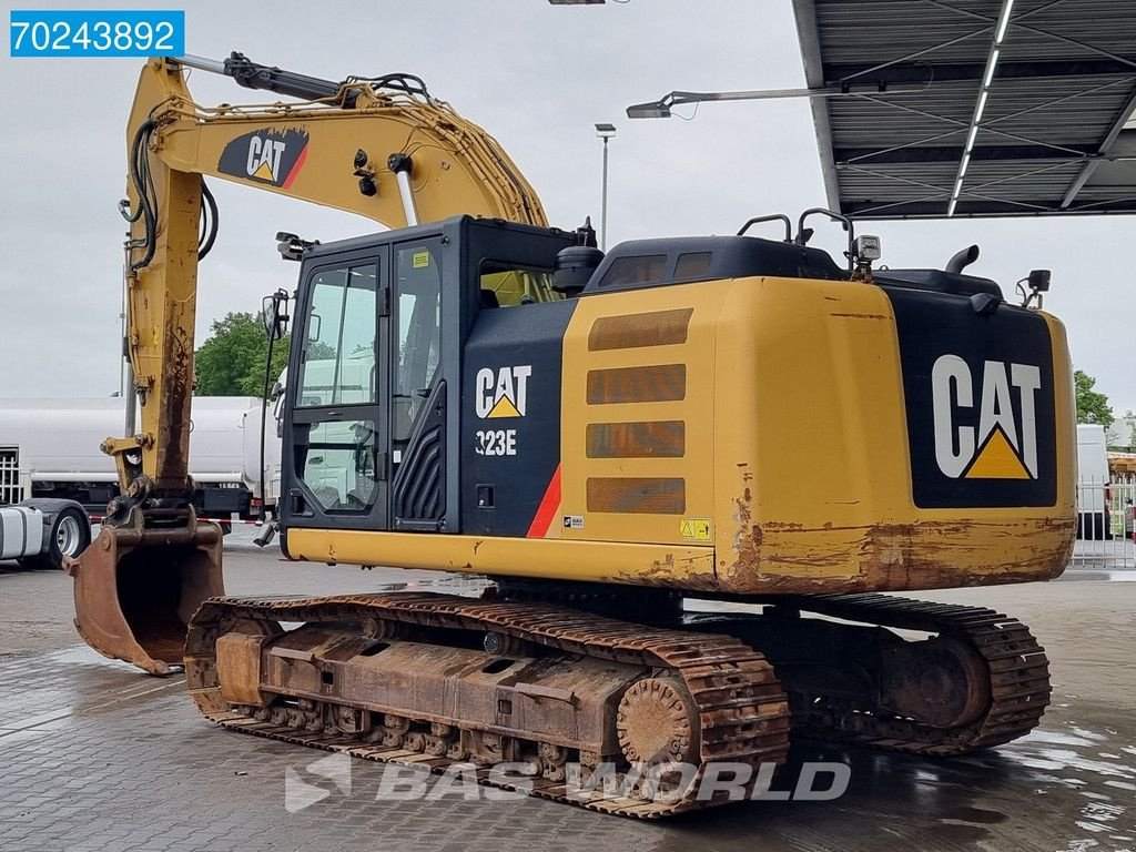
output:
[[[694,309],[686,343],[587,351],[600,317],[684,307]],[[563,342],[561,512],[587,523],[561,538],[690,543],[684,521],[707,518],[717,586],[743,594],[1055,576],[1072,544],[1076,442],[1064,329],[1042,316],[1058,412],[1054,504],[919,509],[895,317],[879,287],[759,277],[582,299]],[[591,369],[679,362],[683,400],[587,404]],[[588,424],[662,419],[684,421],[684,458],[586,458]],[[683,477],[685,510],[588,511],[593,476]],[[533,576],[558,576],[529,565]]]

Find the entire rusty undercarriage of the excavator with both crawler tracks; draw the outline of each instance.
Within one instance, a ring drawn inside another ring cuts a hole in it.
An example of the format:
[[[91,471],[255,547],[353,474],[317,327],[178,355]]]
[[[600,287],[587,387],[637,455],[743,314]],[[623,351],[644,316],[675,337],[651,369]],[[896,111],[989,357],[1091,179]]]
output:
[[[1042,648],[987,609],[550,596],[214,599],[190,625],[187,683],[226,728],[640,818],[736,797],[708,783],[721,767],[767,783],[791,734],[963,754],[1024,735],[1049,703]]]

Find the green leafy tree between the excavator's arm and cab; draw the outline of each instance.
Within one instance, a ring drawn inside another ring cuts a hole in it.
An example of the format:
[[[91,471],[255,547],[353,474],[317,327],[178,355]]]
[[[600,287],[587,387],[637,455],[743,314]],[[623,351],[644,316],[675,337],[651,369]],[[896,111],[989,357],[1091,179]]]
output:
[[[273,345],[269,384],[287,364],[287,335]],[[209,339],[195,356],[194,392],[201,396],[259,396],[267,354],[268,335],[256,314],[232,312],[214,320]]]

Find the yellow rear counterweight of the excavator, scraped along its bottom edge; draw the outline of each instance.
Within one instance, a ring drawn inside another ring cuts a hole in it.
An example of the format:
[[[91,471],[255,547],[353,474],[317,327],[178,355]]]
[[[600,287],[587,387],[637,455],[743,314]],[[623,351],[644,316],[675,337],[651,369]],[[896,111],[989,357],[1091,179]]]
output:
[[[905,398],[896,318],[882,289],[740,281],[722,317],[716,556],[725,590],[935,588],[1046,579],[1063,570],[1072,543],[1075,446],[1068,351],[1056,320],[1044,317],[1044,350],[1008,353],[1034,365],[1044,359],[1052,376],[1037,394],[1049,394],[1055,412],[1053,498],[1045,506],[974,500],[932,508],[916,503],[911,459],[934,446],[934,418],[916,410],[922,426],[908,427],[910,411],[933,404],[932,377],[913,376],[928,386]],[[945,345],[967,336],[960,324],[986,319],[954,315],[921,333]],[[1036,342],[1043,320],[1027,319]],[[1000,360],[997,345],[987,340],[971,360]],[[747,390],[727,394],[725,386]],[[975,390],[980,407],[978,379]],[[1020,406],[1016,411],[1020,420]]]

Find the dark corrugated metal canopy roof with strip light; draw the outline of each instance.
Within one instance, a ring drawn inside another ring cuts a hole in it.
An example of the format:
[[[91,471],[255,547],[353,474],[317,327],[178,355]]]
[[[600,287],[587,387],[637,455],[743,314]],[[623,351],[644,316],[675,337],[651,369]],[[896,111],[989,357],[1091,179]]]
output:
[[[793,6],[833,209],[1136,212],[1136,0]]]

